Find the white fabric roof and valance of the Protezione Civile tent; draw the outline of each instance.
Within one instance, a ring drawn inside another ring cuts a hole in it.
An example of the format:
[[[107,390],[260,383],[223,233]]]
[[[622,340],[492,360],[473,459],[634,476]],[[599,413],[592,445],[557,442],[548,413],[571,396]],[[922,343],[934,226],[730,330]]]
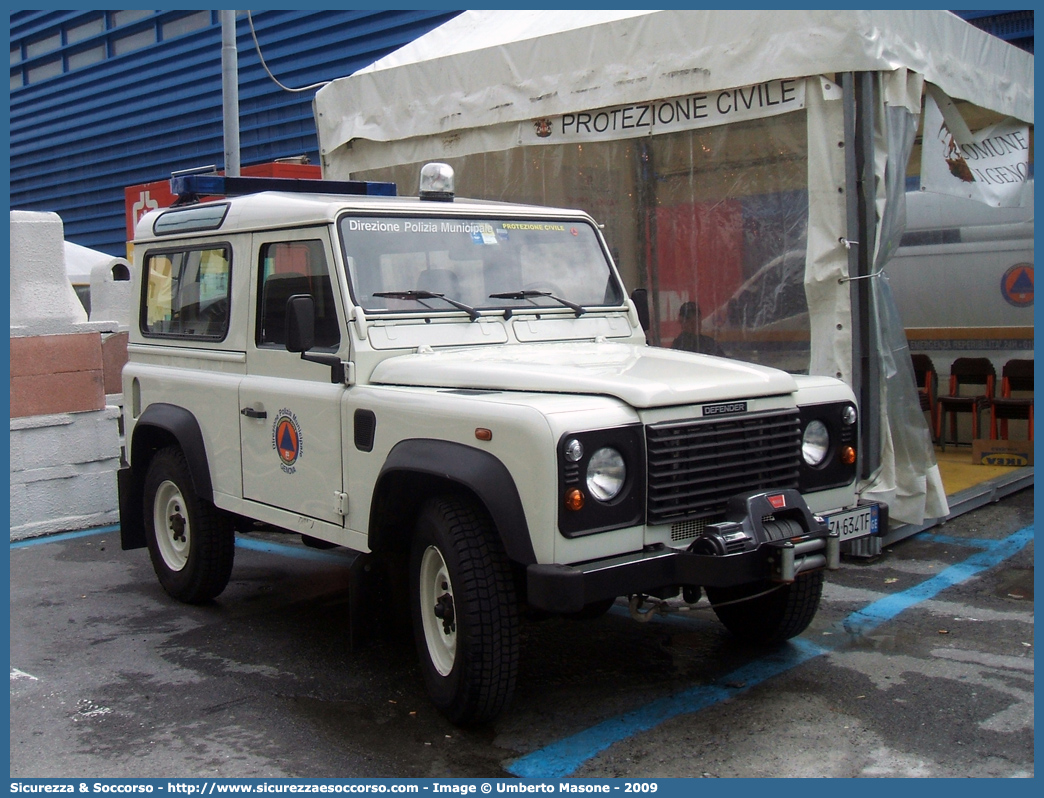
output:
[[[504,10],[466,11],[324,87],[316,124],[332,161],[360,139],[443,137],[780,78],[898,69],[1034,121],[1033,56],[949,11]],[[355,168],[402,163],[397,149],[365,163],[356,152]]]

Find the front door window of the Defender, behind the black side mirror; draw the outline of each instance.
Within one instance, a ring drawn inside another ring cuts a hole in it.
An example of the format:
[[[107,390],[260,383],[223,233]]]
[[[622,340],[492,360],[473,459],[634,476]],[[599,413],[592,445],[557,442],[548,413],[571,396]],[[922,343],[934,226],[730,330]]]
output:
[[[286,302],[295,294],[310,294],[315,302],[315,346],[336,349],[340,344],[330,267],[323,242],[279,241],[261,247],[258,291],[259,347],[286,345]]]

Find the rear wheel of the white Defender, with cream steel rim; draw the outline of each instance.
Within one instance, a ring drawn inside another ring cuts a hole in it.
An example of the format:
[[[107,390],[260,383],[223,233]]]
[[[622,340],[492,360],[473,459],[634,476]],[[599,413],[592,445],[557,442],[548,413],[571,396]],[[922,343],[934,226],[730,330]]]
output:
[[[220,594],[235,557],[232,519],[195,494],[185,454],[176,446],[152,457],[144,510],[148,555],[163,589],[186,604]]]

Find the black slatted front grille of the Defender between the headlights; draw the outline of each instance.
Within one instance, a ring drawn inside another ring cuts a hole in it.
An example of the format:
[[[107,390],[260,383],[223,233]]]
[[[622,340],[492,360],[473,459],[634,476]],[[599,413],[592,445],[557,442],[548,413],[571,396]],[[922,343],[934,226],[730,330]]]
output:
[[[797,410],[645,427],[648,522],[722,516],[730,496],[797,488]]]

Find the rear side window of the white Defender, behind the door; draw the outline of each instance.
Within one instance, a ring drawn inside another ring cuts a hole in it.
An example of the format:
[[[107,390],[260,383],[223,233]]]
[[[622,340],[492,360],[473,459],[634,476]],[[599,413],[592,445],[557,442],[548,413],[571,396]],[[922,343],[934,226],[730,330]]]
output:
[[[145,255],[141,331],[159,337],[221,341],[229,331],[232,252],[210,247]]]

